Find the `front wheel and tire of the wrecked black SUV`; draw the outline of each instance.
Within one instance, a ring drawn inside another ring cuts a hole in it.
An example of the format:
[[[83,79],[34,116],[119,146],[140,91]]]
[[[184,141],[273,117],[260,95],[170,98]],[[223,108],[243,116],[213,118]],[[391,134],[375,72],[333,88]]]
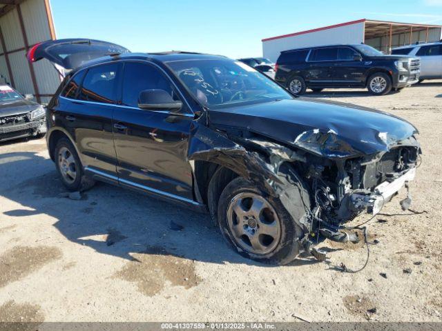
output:
[[[295,214],[305,215],[300,207]],[[229,246],[242,256],[284,265],[300,253],[304,232],[278,198],[269,197],[247,179],[237,177],[222,191],[218,223]]]

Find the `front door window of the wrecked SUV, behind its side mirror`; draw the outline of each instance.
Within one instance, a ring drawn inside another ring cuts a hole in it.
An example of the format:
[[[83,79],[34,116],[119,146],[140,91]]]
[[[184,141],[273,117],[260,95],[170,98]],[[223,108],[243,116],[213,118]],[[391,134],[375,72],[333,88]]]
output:
[[[171,81],[154,66],[147,63],[128,62],[124,64],[123,97],[124,106],[138,107],[138,97],[143,90],[165,90],[178,100]]]

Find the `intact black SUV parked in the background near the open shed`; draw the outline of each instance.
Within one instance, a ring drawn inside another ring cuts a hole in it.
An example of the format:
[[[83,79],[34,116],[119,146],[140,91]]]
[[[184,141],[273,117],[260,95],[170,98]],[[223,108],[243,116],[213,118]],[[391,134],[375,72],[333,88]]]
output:
[[[307,88],[367,88],[375,95],[419,81],[419,58],[385,55],[367,45],[302,48],[281,52],[275,80],[295,94]]]

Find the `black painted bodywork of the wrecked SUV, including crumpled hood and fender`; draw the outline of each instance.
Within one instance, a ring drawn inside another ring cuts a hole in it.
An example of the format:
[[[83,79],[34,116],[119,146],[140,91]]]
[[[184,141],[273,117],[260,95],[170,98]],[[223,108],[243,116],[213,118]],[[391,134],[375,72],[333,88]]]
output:
[[[300,202],[291,196],[294,185],[281,177],[283,163],[310,165],[310,177],[311,171],[318,175],[324,165],[336,165],[338,178],[342,179],[346,160],[379,159],[390,148],[409,140],[419,149],[414,139],[417,130],[410,123],[344,103],[294,98],[207,109],[184,88],[167,63],[216,58],[205,54],[122,54],[96,59],[73,70],[48,105],[50,157],[55,159],[54,139],[66,136],[86,172],[95,179],[198,210],[205,210],[208,203],[198,161],[207,161],[280,197],[290,213],[294,203]],[[125,61],[144,61],[160,68],[177,88],[184,108],[180,112],[160,112],[128,108],[120,101],[102,104],[59,96],[77,72]],[[293,173],[305,185],[306,179]],[[336,190],[341,185],[336,183]],[[308,233],[311,223],[307,219],[302,222]]]

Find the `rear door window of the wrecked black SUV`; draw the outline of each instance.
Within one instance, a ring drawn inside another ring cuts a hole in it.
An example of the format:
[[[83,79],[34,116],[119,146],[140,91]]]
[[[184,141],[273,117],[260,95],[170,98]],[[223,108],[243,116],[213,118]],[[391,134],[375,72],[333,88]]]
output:
[[[90,68],[84,77],[79,99],[115,103],[117,100],[117,71],[117,63]]]

